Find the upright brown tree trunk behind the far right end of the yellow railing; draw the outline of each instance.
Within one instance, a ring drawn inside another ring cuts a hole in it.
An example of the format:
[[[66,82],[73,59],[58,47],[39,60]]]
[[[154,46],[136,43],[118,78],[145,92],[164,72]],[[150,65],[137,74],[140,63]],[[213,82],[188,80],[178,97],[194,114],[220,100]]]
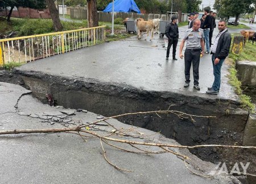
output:
[[[87,0],[87,20],[88,27],[98,26],[98,12],[96,7],[96,0]]]

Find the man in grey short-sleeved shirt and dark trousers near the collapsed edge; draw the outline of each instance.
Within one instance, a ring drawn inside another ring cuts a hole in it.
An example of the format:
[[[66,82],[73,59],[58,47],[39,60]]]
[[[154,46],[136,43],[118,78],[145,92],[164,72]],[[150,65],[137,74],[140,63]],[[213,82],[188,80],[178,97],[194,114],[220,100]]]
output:
[[[199,63],[200,54],[204,55],[204,32],[200,28],[201,21],[199,19],[194,20],[193,27],[185,31],[185,35],[180,44],[180,58],[183,58],[182,49],[184,47],[185,41],[187,40],[187,45],[184,53],[185,60],[185,84],[184,87],[189,86],[190,82],[190,68],[193,65],[193,78],[194,78],[194,88],[200,90],[199,87]]]

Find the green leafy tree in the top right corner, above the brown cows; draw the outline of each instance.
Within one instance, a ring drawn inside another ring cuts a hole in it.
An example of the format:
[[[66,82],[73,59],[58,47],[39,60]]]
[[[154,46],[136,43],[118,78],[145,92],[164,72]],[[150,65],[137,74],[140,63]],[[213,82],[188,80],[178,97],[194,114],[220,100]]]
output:
[[[234,25],[237,25],[237,20],[240,14],[250,13],[255,10],[255,0],[216,0],[214,3],[214,9],[217,10],[217,14],[224,18],[229,16],[235,16],[236,20]]]

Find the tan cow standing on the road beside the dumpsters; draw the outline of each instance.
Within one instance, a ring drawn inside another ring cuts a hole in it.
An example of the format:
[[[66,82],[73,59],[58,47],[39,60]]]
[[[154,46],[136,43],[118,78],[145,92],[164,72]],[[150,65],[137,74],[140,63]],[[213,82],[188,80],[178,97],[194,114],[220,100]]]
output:
[[[153,35],[153,28],[154,28],[154,24],[153,24],[152,20],[143,21],[143,20],[141,20],[141,18],[137,19],[138,39],[141,39],[142,32],[147,32],[147,36],[148,36],[148,32],[151,31],[150,40],[152,40],[153,36],[154,36]]]

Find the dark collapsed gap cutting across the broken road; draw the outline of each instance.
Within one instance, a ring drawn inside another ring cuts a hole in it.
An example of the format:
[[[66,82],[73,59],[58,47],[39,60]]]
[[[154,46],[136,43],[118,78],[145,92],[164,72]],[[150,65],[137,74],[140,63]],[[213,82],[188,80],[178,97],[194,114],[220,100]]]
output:
[[[114,85],[94,80],[73,80],[47,74],[17,74],[21,83],[32,95],[48,103],[46,94],[51,94],[54,105],[85,110],[113,116],[128,112],[170,110],[175,114],[137,114],[118,118],[122,123],[132,124],[176,140],[181,145],[222,144],[242,145],[247,114],[229,101],[214,101],[182,93],[146,91],[127,85]],[[9,76],[7,78],[10,78]],[[6,80],[6,82],[8,82]],[[229,114],[226,112],[229,109]],[[197,115],[187,116],[185,114]],[[179,115],[177,115],[179,114]],[[216,116],[203,118],[199,116]],[[192,117],[192,118],[191,118]],[[191,153],[210,162],[225,162],[233,168],[235,162],[251,160],[250,172],[255,170],[255,153],[247,150],[224,148],[197,148]],[[249,183],[255,178],[248,177]],[[252,182],[253,181],[253,182]]]

